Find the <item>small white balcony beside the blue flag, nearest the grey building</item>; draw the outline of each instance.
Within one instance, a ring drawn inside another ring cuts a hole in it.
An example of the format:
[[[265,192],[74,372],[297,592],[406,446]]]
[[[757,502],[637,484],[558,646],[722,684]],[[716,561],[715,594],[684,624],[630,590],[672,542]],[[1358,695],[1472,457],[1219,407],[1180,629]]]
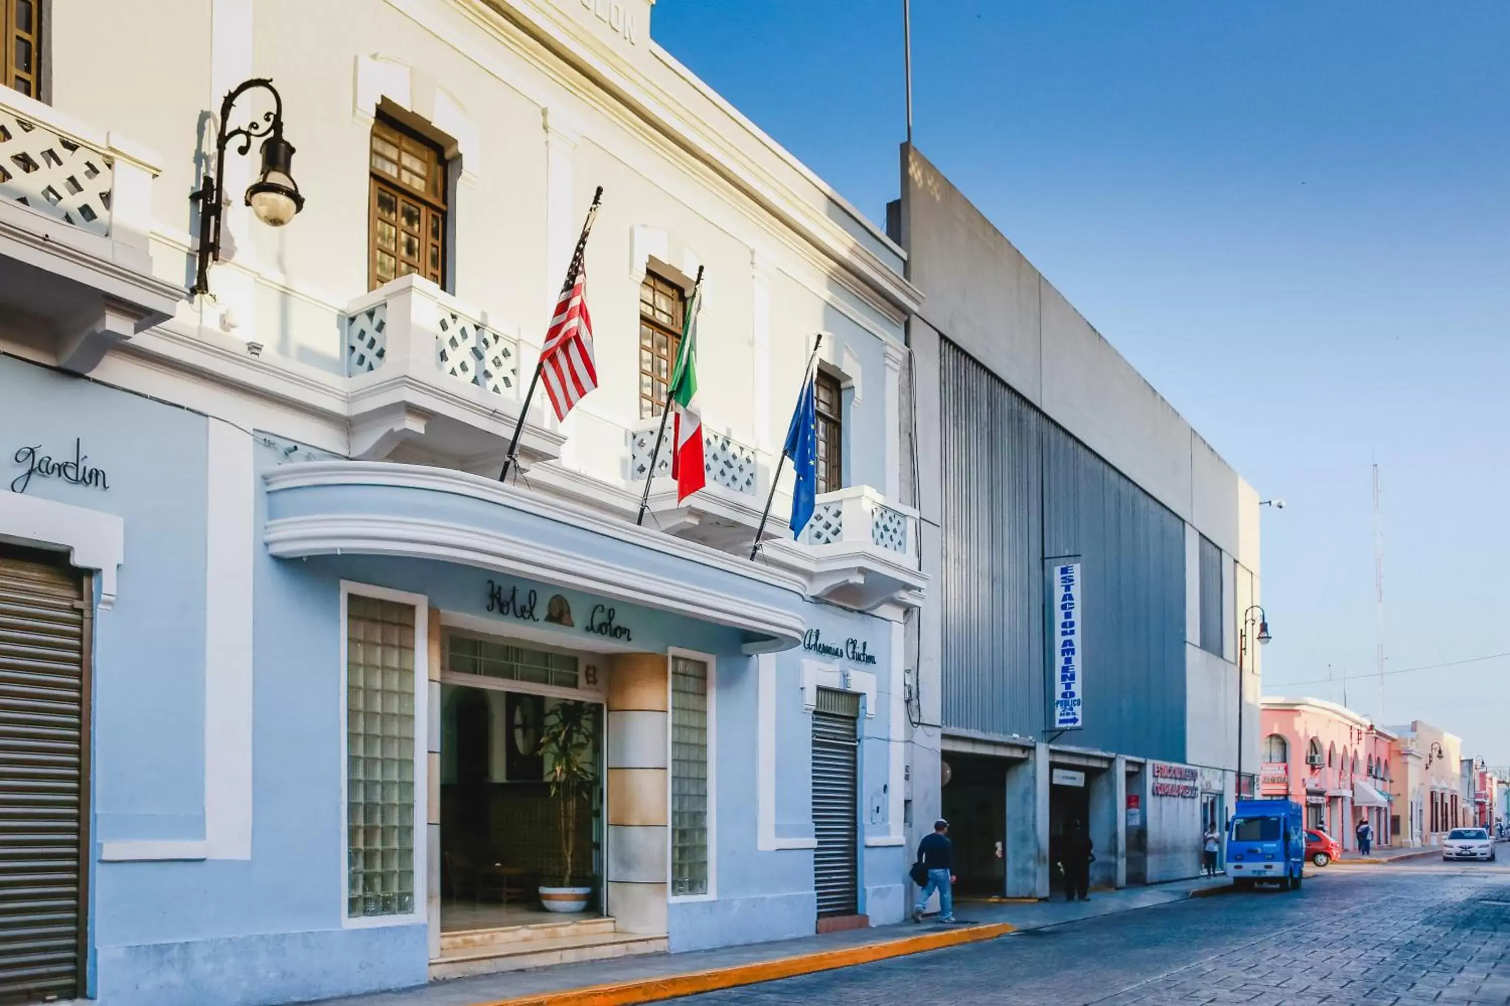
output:
[[[918,603],[927,578],[918,569],[917,535],[918,511],[870,486],[823,493],[800,538],[812,594],[861,611]]]

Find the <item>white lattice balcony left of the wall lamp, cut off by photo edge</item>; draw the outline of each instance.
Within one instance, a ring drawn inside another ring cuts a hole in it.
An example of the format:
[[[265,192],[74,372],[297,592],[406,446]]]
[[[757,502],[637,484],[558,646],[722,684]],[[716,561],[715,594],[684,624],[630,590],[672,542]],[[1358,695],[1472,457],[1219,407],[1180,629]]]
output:
[[[88,373],[166,320],[184,290],[148,255],[157,157],[0,87],[0,317]]]

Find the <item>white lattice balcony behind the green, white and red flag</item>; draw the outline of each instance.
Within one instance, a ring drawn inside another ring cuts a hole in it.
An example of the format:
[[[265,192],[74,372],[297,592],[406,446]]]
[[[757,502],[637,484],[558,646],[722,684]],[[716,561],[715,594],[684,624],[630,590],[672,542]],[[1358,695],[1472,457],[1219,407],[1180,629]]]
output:
[[[636,492],[643,492],[646,474],[652,471],[657,430],[660,418],[643,419],[628,431],[630,484]],[[667,424],[654,463],[646,525],[716,549],[747,551],[766,505],[755,448],[726,433],[714,433],[704,424],[702,466],[708,481],[681,504],[676,502],[676,483],[670,478],[670,454],[672,425]]]

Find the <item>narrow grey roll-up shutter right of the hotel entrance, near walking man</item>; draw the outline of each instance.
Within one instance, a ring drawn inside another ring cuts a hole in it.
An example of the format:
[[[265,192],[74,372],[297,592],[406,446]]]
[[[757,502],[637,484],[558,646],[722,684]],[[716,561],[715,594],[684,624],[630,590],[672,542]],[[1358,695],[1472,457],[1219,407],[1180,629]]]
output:
[[[818,917],[859,911],[859,695],[818,689],[812,710],[812,879]]]

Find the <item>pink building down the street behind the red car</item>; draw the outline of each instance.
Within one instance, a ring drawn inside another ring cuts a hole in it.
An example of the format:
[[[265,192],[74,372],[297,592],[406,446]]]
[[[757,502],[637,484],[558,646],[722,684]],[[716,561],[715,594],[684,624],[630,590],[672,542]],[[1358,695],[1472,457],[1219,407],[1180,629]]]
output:
[[[1389,768],[1395,735],[1351,709],[1321,698],[1265,698],[1259,713],[1264,753],[1261,796],[1290,796],[1306,807],[1306,827],[1356,849],[1368,820],[1374,845],[1394,845]]]

